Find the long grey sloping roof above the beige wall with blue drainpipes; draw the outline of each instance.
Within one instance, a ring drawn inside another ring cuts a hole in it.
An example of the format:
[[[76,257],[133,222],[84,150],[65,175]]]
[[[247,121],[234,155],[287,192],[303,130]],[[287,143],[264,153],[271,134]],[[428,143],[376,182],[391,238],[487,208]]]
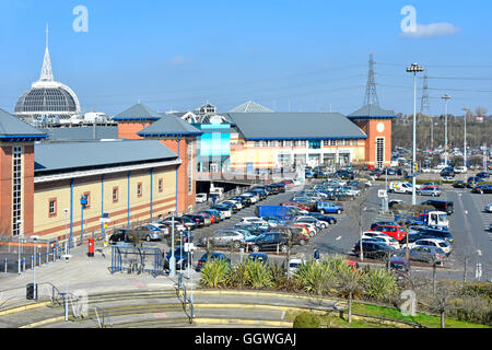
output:
[[[174,159],[176,153],[156,140],[48,142],[34,147],[37,173]]]

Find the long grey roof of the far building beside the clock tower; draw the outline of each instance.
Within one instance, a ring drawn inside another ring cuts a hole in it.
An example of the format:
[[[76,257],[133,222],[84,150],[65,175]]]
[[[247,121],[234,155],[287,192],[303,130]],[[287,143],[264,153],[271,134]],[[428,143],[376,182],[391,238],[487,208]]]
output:
[[[229,113],[246,140],[366,139],[339,113]]]

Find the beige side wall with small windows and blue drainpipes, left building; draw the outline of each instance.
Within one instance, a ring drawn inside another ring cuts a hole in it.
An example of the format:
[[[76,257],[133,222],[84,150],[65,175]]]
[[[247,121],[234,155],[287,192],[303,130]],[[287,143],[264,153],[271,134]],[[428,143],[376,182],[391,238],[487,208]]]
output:
[[[159,183],[162,180],[162,191]],[[141,186],[141,195],[138,186]],[[117,190],[116,201],[113,190]],[[130,176],[130,222],[150,219],[151,211],[151,171],[132,172]],[[101,231],[102,215],[102,176],[75,179],[73,187],[73,235],[81,232],[82,196],[89,195],[89,206],[84,209],[84,233]],[[152,217],[166,215],[175,209],[176,201],[175,167],[154,170]],[[50,201],[56,201],[56,214],[49,214]],[[65,213],[63,209],[69,212]],[[106,175],[104,179],[104,212],[109,213],[108,228],[125,225],[128,222],[128,173]],[[37,184],[34,194],[34,234],[43,238],[65,237],[70,234],[70,180]]]

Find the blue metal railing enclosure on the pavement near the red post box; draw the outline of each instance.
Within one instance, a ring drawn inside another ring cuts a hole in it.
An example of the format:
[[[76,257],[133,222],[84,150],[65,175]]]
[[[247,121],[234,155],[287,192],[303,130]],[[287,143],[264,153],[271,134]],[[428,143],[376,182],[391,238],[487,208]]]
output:
[[[163,253],[159,248],[149,247],[112,247],[112,273],[144,273],[154,278],[164,275]]]

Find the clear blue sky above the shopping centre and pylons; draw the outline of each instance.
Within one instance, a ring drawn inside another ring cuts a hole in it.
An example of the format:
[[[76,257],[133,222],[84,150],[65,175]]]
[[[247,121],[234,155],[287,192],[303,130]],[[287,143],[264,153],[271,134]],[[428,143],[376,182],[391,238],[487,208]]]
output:
[[[72,30],[77,5],[89,11],[87,33]],[[402,34],[405,5],[426,36]],[[138,101],[184,110],[207,100],[229,110],[254,100],[350,114],[362,106],[373,54],[385,108],[412,113],[405,68],[417,61],[433,78],[433,114],[444,113],[444,93],[453,114],[492,113],[491,13],[490,1],[473,0],[0,0],[0,108],[13,112],[39,78],[49,23],[55,79],[85,112],[115,115]]]

